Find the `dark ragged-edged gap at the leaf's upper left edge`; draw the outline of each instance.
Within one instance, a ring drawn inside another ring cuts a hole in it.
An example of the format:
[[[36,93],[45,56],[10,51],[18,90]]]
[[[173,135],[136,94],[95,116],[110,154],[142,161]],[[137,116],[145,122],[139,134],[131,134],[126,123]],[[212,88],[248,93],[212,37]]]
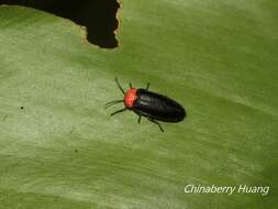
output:
[[[0,0],[0,4],[18,4],[43,10],[70,19],[88,31],[88,41],[104,48],[118,46],[114,31],[118,29],[116,0]]]

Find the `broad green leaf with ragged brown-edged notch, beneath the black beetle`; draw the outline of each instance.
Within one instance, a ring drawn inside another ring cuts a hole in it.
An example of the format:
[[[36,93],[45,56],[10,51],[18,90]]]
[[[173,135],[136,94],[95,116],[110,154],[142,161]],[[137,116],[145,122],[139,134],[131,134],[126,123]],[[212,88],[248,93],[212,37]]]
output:
[[[267,0],[124,1],[120,46],[101,50],[68,20],[0,7],[0,206],[275,208],[277,11]],[[115,76],[125,89],[149,81],[187,119],[160,133],[132,112],[111,118]]]

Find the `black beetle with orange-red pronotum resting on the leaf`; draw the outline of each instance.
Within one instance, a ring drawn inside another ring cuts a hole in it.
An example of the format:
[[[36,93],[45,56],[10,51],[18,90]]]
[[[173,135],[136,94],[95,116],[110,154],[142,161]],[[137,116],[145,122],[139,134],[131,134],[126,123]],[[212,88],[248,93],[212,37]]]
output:
[[[111,113],[111,117],[125,110],[131,110],[138,116],[138,123],[141,123],[141,117],[145,117],[157,124],[162,132],[164,132],[164,129],[158,121],[175,123],[186,118],[186,110],[181,105],[164,95],[149,91],[149,82],[147,82],[145,89],[133,88],[130,82],[127,91],[123,90],[118,77],[115,77],[115,84],[124,97],[121,100],[107,102],[105,108],[120,102],[124,103],[124,108]]]

